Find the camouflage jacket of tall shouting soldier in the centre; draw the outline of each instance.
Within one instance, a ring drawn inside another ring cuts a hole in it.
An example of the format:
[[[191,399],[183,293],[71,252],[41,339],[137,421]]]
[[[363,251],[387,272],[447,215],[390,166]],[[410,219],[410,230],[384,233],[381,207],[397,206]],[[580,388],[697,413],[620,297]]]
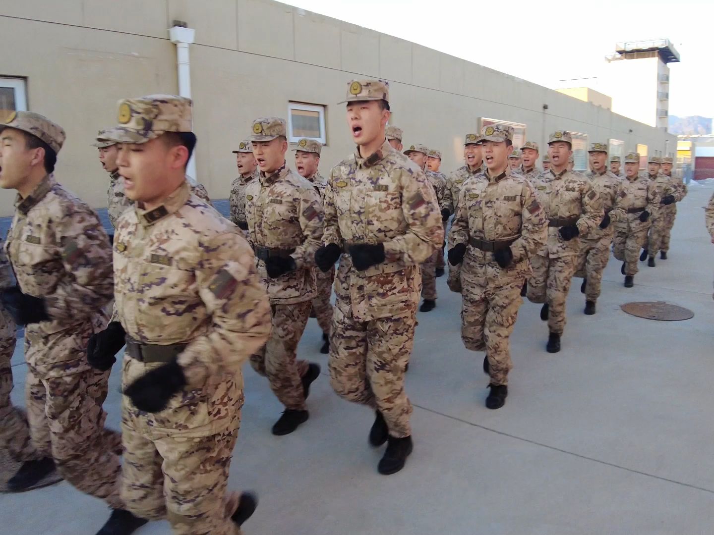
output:
[[[443,242],[436,194],[423,170],[385,141],[369,158],[359,148],[338,163],[325,190],[323,243],[382,243],[385,261],[357,271],[343,253],[336,306],[358,321],[416,310],[418,265]]]

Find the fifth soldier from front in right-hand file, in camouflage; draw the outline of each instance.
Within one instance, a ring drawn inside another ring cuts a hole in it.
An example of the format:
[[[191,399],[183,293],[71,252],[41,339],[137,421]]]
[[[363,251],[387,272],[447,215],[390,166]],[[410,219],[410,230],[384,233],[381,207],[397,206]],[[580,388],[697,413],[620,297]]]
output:
[[[610,247],[613,245],[614,226],[610,225],[610,210],[617,200],[620,179],[608,171],[608,146],[605,143],[590,143],[590,179],[595,191],[603,203],[603,220],[589,233],[580,236],[578,270],[575,277],[583,277],[580,293],[585,294],[585,314],[595,314],[595,302],[600,297],[600,285],[603,271],[610,259]]]

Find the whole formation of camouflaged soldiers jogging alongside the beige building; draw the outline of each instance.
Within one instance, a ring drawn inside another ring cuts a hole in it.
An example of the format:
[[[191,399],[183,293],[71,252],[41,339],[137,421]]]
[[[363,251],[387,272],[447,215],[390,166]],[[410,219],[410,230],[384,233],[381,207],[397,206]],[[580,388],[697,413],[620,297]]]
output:
[[[388,125],[388,82],[351,81],[343,103],[356,149],[328,176],[320,143],[296,144],[296,173],[286,121],[253,121],[233,151],[240,175],[226,219],[185,174],[196,144],[190,99],[120,101],[95,145],[109,173],[111,243],[94,210],[54,177],[61,126],[32,112],[4,118],[0,186],[18,194],[3,258],[15,280],[4,269],[0,296],[0,446],[19,463],[9,490],[69,481],[111,508],[99,535],[156,519],[176,534],[242,533],[257,498],[227,489],[241,365],[266,377],[285,407],[273,434],[295,432],[321,374],[297,356],[311,315],[331,387],[373,411],[368,443],[386,444],[378,472],[394,474],[413,449],[404,376],[416,313],[436,307],[444,248],[463,343],[485,353],[490,409],[508,395],[524,296],[543,305],[546,347],[558,352],[573,277],[583,277],[592,315],[610,248],[625,287],[643,249],[650,266],[657,253],[667,258],[686,194],[670,158],[650,158],[640,175],[630,153],[620,175],[619,159],[592,143],[583,174],[567,131],[552,133],[541,156],[533,141],[514,150],[513,128],[494,123],[466,134],[464,165],[447,176],[439,151],[404,150],[403,132]],[[25,328],[26,414],[9,400],[16,325]],[[118,433],[104,427],[102,405],[125,345]]]

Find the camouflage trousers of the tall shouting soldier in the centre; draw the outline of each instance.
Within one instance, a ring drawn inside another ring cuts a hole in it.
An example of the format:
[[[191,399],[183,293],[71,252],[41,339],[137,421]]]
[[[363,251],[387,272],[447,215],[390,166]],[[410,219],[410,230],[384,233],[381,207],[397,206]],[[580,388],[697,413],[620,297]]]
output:
[[[348,401],[378,409],[389,434],[411,435],[411,403],[404,370],[414,345],[416,303],[411,310],[360,322],[335,308],[330,333],[330,384]]]

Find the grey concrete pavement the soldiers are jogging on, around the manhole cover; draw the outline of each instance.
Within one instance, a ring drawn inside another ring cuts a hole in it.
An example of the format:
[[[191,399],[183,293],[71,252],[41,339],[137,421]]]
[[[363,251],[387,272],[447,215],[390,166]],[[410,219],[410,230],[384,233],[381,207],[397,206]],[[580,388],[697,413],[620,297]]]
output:
[[[438,279],[438,307],[420,314],[408,372],[415,448],[403,472],[376,473],[372,414],[333,394],[316,322],[302,357],[323,365],[311,419],[287,437],[270,428],[281,406],[246,365],[246,407],[233,457],[234,489],[261,496],[254,535],[709,534],[714,526],[714,245],[703,206],[680,203],[670,260],[640,263],[625,290],[620,264],[605,272],[598,314],[583,315],[573,284],[563,350],[545,352],[539,305],[525,303],[513,335],[515,367],[503,409],[483,405],[483,354],[464,350],[459,297]],[[695,312],[685,322],[626,315],[624,302],[664,300]],[[25,366],[15,357],[16,384]],[[119,422],[119,365],[106,402]],[[22,387],[14,400],[22,404]],[[0,496],[1,531],[94,534],[108,511],[68,484]],[[153,523],[139,535],[169,534]]]

